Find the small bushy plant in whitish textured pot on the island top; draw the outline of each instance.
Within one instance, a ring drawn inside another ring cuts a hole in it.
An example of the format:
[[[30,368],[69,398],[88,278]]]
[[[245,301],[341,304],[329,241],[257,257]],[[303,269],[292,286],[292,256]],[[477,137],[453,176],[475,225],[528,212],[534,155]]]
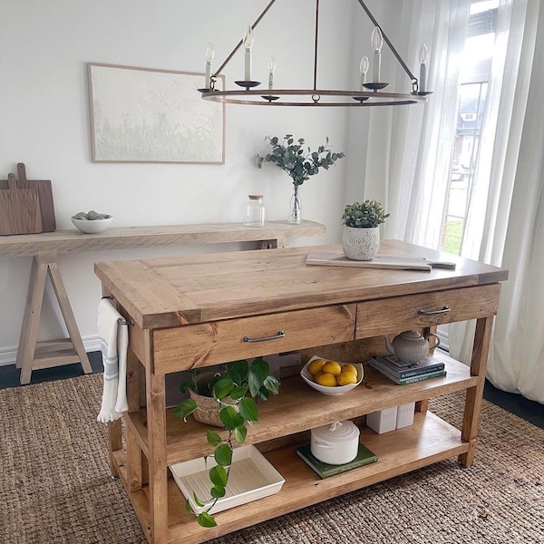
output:
[[[380,248],[379,226],[389,217],[377,200],[347,204],[342,219],[342,248],[345,257],[372,260]]]

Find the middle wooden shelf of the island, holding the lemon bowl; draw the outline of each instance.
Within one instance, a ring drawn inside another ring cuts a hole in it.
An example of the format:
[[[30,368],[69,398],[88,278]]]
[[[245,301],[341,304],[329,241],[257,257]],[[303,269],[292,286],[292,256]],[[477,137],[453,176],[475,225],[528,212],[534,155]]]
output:
[[[258,423],[248,429],[247,444],[267,442],[277,436],[295,434],[338,420],[353,419],[365,413],[383,410],[391,406],[412,403],[433,396],[461,391],[475,386],[477,376],[470,375],[470,368],[447,355],[447,375],[409,385],[396,385],[368,365],[364,366],[364,382],[372,385],[367,389],[359,385],[349,393],[328,396],[309,387],[300,376],[282,381],[279,394],[266,403],[259,403]],[[173,417],[173,409],[167,411],[166,438],[168,464],[188,461],[209,452],[205,426],[189,417],[183,423]],[[128,414],[129,424],[136,431],[144,454],[148,454],[147,427],[144,409]],[[215,429],[221,434],[222,431]]]

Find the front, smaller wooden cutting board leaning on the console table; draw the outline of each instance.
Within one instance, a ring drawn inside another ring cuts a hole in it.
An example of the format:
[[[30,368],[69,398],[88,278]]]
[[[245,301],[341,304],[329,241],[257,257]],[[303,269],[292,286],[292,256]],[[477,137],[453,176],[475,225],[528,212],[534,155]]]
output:
[[[17,189],[14,174],[0,189],[0,235],[43,232],[38,189]]]

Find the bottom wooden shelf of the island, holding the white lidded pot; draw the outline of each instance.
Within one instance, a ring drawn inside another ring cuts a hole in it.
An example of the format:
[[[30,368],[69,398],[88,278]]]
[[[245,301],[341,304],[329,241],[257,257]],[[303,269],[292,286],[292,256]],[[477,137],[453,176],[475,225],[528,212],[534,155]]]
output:
[[[277,494],[255,500],[215,514],[215,528],[203,529],[194,515],[185,511],[185,498],[171,478],[168,482],[169,542],[192,544],[277,518],[323,500],[355,491],[378,481],[388,480],[437,461],[468,451],[461,442],[461,432],[431,412],[415,413],[413,425],[393,432],[377,434],[367,427],[361,429],[361,442],[377,456],[378,461],[321,480],[296,454],[296,445],[265,452],[264,455],[285,478]],[[120,464],[121,459],[117,460]],[[150,535],[149,489],[145,486],[130,491],[124,467],[119,467],[121,481],[129,493],[141,526]],[[170,476],[170,474],[169,474]]]

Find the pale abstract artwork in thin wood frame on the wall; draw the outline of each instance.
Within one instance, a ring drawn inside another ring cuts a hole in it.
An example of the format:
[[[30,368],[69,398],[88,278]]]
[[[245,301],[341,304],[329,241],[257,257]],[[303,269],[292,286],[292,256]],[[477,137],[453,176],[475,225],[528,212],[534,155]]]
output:
[[[203,73],[87,70],[93,162],[224,164],[225,105],[200,98]]]

